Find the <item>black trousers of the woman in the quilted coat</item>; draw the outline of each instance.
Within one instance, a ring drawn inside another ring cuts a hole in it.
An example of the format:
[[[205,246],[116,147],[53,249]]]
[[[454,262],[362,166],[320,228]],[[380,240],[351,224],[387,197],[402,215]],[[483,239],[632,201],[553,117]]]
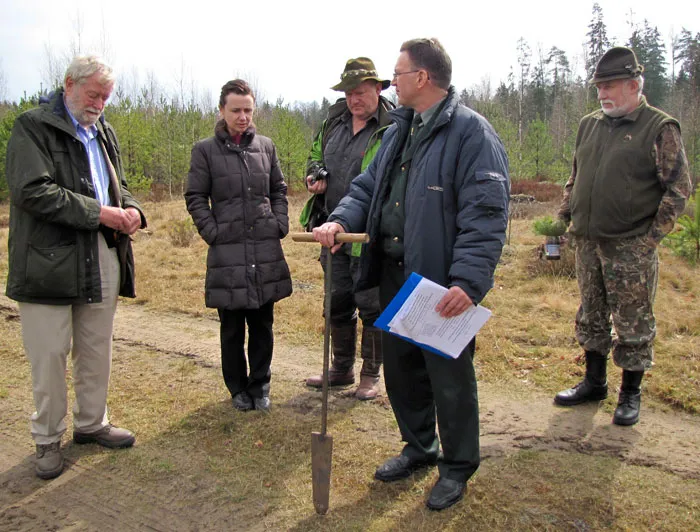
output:
[[[270,392],[272,323],[274,303],[259,309],[218,309],[221,321],[221,371],[231,397],[247,391],[251,397]],[[248,324],[248,365],[245,358],[245,325]]]

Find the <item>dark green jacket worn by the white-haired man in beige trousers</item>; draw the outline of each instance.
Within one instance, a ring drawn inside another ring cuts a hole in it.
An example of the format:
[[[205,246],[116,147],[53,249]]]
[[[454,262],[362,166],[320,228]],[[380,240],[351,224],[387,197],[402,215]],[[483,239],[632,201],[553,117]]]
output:
[[[114,130],[104,120],[96,126],[121,180],[122,207],[140,211],[127,189]],[[102,301],[100,203],[87,152],[66,112],[62,90],[15,121],[7,145],[7,182],[11,200],[7,296],[49,305]]]

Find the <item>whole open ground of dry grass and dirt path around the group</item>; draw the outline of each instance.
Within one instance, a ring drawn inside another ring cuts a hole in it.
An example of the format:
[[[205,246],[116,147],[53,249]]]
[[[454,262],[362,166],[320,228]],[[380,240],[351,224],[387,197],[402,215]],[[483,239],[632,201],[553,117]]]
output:
[[[303,199],[291,198],[290,218]],[[16,304],[0,296],[0,531],[697,529],[700,276],[662,250],[656,365],[638,425],[610,422],[620,380],[612,363],[606,401],[556,407],[553,394],[583,366],[571,263],[538,258],[541,238],[530,227],[552,208],[513,220],[484,301],[494,315],[476,354],[482,465],[453,508],[425,507],[436,470],[373,480],[400,437],[385,395],[358,402],[350,387],[331,393],[330,510],[315,514],[310,448],[321,393],[303,382],[322,358],[318,248],[284,242],[295,293],[276,307],[272,411],[237,412],[220,375],[216,313],[203,303],[206,246],[182,238],[177,222],[187,214],[171,202],[146,205],[150,227],[135,245],[139,297],[120,302],[115,322],[109,406],[111,420],[136,433],[132,449],[73,445],[69,414],[66,470],[35,477],[30,370]],[[6,239],[2,228],[2,277]]]

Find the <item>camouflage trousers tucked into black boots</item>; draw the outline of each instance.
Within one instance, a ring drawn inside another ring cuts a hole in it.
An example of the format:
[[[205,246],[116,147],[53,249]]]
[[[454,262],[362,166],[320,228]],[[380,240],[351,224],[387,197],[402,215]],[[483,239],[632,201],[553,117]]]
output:
[[[607,241],[576,237],[575,246],[579,344],[603,354],[612,347],[613,361],[622,369],[650,369],[656,336],[656,246],[646,236]]]

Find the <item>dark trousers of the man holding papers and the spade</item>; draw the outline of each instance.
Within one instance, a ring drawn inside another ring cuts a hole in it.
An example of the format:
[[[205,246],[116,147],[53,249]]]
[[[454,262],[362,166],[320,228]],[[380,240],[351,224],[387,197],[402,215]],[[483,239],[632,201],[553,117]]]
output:
[[[403,283],[403,268],[384,261],[379,285],[382,308]],[[425,351],[388,333],[383,342],[386,391],[401,438],[406,442],[402,454],[421,460],[435,459],[442,443],[440,476],[466,481],[479,467],[475,340],[457,359]]]

